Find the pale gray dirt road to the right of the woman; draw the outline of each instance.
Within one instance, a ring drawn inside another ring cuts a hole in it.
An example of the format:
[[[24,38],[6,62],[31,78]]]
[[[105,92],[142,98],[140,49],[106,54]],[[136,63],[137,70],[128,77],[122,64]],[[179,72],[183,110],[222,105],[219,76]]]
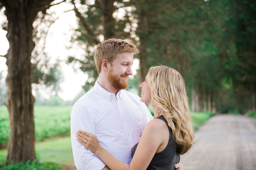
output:
[[[185,170],[256,170],[256,121],[220,115],[195,133],[194,148],[180,158]]]

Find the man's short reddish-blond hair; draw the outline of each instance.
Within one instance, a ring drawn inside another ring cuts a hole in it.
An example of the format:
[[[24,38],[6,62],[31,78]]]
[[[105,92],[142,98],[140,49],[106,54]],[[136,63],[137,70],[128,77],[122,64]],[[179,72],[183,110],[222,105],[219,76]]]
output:
[[[94,62],[97,67],[98,73],[101,71],[102,60],[106,59],[112,66],[113,61],[120,53],[132,52],[133,54],[139,53],[137,47],[129,41],[123,39],[107,39],[98,44],[94,54]]]

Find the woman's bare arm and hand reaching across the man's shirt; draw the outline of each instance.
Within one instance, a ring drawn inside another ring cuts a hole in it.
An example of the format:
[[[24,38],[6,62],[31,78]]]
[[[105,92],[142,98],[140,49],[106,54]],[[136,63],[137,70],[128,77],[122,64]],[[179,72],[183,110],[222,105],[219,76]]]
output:
[[[85,148],[98,155],[111,170],[143,170],[147,169],[157,148],[164,142],[164,136],[166,136],[166,134],[163,134],[164,126],[166,126],[166,124],[160,119],[153,119],[148,122],[130,165],[119,161],[108,153],[100,146],[97,137],[91,133],[80,130],[77,133],[77,140],[84,145]],[[87,140],[86,144],[84,143],[85,139]]]

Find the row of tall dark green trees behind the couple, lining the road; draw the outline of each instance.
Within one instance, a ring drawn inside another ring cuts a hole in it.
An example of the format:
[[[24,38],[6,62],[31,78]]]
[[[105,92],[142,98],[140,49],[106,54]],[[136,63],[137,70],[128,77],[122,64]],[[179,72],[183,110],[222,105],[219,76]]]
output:
[[[103,36],[128,39],[138,46],[139,83],[155,64],[177,69],[186,81],[193,111],[243,113],[255,109],[255,1],[71,3],[80,26],[73,41],[85,45],[86,59],[70,56],[69,62],[79,62],[80,69],[89,74],[84,89],[90,89],[98,77],[93,47]]]

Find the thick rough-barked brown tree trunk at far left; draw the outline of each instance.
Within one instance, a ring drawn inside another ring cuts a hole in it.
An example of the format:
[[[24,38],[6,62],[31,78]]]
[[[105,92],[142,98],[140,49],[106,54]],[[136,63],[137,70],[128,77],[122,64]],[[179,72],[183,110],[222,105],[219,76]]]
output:
[[[32,24],[38,11],[45,10],[45,6],[50,5],[51,1],[0,0],[6,8],[6,37],[10,44],[5,55],[8,67],[8,94],[5,105],[11,124],[7,163],[36,159],[33,110],[35,99],[31,92],[31,52],[35,46],[32,40]]]

